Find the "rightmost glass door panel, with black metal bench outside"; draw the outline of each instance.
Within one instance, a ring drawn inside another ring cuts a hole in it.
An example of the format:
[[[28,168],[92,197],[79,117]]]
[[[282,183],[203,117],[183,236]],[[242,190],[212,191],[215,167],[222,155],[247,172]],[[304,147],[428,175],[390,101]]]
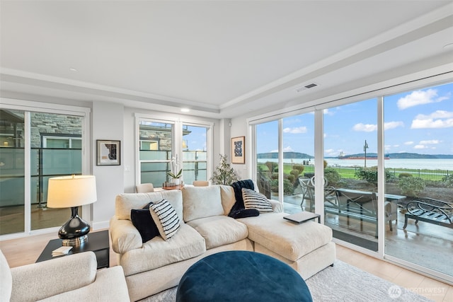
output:
[[[453,83],[384,97],[385,253],[453,276]],[[417,221],[417,219],[419,220]]]

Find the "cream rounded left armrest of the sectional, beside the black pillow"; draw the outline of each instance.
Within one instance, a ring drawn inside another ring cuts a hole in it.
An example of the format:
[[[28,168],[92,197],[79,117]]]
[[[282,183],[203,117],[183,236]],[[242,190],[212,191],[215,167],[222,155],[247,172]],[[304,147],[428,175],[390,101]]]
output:
[[[142,236],[132,221],[127,219],[117,219],[113,216],[110,219],[110,238],[112,248],[117,254],[124,254],[128,250],[142,248]]]

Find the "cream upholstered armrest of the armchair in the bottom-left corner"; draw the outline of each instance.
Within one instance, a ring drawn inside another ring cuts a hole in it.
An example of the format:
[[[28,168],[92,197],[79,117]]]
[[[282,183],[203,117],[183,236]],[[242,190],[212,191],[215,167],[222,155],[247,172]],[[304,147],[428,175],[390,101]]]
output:
[[[98,262],[94,252],[13,267],[11,301],[37,301],[91,284]]]

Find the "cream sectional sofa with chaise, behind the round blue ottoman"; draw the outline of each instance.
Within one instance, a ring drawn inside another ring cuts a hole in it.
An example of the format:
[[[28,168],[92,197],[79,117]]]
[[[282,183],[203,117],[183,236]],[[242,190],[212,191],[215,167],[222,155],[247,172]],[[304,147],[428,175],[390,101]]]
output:
[[[156,236],[142,243],[131,221],[131,210],[161,199],[175,209],[180,228],[168,240]],[[178,285],[190,265],[225,250],[249,250],[276,257],[304,279],[335,261],[331,228],[314,221],[291,223],[283,219],[286,214],[282,213],[282,205],[273,200],[273,213],[233,219],[228,214],[235,202],[233,187],[226,185],[117,195],[110,235],[131,300]]]

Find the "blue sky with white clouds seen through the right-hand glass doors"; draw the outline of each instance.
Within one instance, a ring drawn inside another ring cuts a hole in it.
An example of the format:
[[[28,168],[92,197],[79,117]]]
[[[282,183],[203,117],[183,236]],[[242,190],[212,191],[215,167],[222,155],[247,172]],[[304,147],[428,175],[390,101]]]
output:
[[[386,153],[453,154],[453,83],[384,97]],[[283,120],[283,149],[314,154],[314,114]],[[277,151],[277,122],[257,127],[258,153]],[[324,156],[377,152],[377,99],[324,111]]]

